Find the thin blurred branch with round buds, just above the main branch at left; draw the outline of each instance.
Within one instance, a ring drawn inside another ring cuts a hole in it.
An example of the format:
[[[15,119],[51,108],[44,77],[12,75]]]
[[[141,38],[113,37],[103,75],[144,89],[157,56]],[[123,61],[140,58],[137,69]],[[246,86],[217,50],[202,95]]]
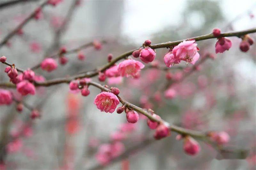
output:
[[[106,43],[107,41],[105,40],[102,40],[100,41],[101,43]],[[73,48],[73,49],[70,49],[68,50],[65,54],[73,54],[73,53],[77,53],[78,51],[82,50],[82,49],[85,49],[85,48],[88,48],[88,47],[91,47],[93,46],[93,42],[88,42],[88,43],[85,43],[77,48]],[[54,54],[54,55],[50,55],[50,56],[44,56],[44,58],[46,57],[49,57],[49,58],[57,58],[58,56],[60,55],[60,52],[58,52],[57,54]],[[36,70],[40,67],[40,63],[36,64],[35,66],[31,67],[31,70]]]

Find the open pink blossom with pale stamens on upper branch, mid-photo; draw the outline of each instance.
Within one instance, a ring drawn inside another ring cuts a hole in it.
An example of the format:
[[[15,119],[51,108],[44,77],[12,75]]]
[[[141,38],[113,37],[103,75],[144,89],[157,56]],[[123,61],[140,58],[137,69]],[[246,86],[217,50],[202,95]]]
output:
[[[118,71],[120,72],[121,76],[124,77],[136,77],[136,75],[143,69],[145,66],[139,61],[128,59],[124,60],[118,64]]]

